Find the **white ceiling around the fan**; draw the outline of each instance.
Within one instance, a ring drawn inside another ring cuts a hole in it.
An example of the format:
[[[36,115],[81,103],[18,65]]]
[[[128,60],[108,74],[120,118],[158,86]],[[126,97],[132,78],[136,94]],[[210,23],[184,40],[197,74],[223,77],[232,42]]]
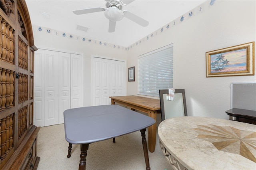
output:
[[[75,15],[72,12],[84,8],[105,8],[104,0],[26,0],[26,4],[33,25],[128,47],[205,1],[135,0],[123,6],[122,10],[147,20],[149,25],[142,27],[124,17],[116,22],[116,31],[113,33],[108,32],[109,20],[105,18],[104,12],[83,15]],[[49,14],[49,18],[44,17],[42,12]],[[89,29],[87,32],[76,30],[77,25]]]

